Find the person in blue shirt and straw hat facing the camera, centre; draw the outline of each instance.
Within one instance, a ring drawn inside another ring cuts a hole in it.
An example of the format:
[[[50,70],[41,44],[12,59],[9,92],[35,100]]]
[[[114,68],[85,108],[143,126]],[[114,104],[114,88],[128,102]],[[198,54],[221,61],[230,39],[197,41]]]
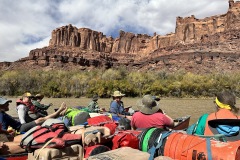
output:
[[[110,103],[110,113],[113,116],[126,117],[130,115],[130,113],[125,111],[123,101],[121,101],[123,96],[125,96],[125,94],[122,94],[120,91],[113,93],[113,100]]]

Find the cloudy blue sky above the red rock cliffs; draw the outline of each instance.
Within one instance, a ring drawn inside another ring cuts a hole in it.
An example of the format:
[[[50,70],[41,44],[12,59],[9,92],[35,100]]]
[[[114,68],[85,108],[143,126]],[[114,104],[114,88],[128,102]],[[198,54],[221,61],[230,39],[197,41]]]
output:
[[[225,14],[228,0],[0,0],[0,62],[48,46],[55,28],[72,24],[118,37],[175,32],[176,17]]]

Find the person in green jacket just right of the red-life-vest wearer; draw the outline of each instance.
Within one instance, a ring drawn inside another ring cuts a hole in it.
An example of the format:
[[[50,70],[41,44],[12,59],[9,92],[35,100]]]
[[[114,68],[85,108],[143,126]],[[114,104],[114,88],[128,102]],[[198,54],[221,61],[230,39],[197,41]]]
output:
[[[36,107],[36,110],[38,114],[41,114],[42,117],[47,116],[47,109],[52,106],[53,104],[50,103],[48,105],[41,104],[42,99],[44,98],[44,95],[42,94],[37,94],[32,98],[32,103]]]

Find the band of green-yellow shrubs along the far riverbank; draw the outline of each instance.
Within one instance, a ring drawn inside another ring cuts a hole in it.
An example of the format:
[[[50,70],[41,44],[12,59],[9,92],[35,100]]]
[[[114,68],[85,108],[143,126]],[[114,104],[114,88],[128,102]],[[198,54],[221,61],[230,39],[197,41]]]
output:
[[[128,71],[121,67],[92,71],[15,70],[1,71],[0,81],[0,94],[8,96],[29,91],[47,97],[110,97],[114,90],[120,90],[129,97],[211,97],[223,89],[240,96],[240,73],[198,75],[184,71]]]

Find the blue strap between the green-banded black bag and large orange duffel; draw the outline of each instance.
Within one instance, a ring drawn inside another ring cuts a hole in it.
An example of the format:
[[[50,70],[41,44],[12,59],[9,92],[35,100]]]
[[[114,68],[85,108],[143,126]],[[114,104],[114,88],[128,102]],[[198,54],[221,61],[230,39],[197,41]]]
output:
[[[155,144],[148,150],[148,153],[150,153],[150,157],[148,158],[148,160],[153,160],[154,159],[154,154],[156,152],[156,149],[160,148],[163,144],[163,140],[168,137],[170,134],[172,133],[172,131],[168,131],[168,132],[163,132],[160,134],[159,138],[157,139],[156,143],[157,146],[155,146]]]

